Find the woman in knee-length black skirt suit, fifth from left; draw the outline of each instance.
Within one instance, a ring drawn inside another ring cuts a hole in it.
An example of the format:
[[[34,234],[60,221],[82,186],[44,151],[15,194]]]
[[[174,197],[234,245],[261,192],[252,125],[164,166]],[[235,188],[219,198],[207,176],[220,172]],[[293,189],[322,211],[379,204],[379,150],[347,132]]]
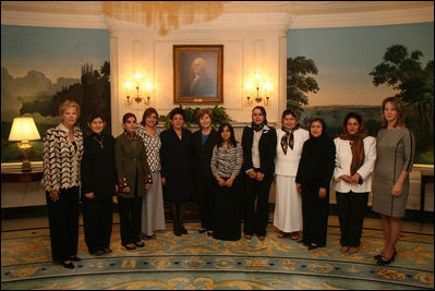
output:
[[[160,134],[161,184],[164,198],[171,202],[173,233],[181,237],[188,234],[183,218],[191,197],[192,133],[183,129],[184,110],[181,108],[172,109],[169,119],[171,128]]]

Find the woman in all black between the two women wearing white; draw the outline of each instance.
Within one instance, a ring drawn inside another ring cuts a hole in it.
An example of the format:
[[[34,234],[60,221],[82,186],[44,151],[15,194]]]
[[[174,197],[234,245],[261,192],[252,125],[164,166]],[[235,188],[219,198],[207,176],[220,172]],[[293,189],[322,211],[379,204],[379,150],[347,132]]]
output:
[[[297,190],[302,194],[303,240],[314,250],[326,245],[329,214],[329,184],[333,177],[336,147],[325,134],[325,122],[310,122],[310,140],[302,148],[297,174]]]

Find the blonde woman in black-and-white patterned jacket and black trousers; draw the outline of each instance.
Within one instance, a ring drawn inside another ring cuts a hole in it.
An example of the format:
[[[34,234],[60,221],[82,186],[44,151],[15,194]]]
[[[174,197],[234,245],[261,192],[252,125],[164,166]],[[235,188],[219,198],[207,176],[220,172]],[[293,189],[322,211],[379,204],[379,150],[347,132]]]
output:
[[[62,122],[44,135],[43,184],[46,187],[51,256],[53,262],[72,269],[77,262],[80,162],[83,134],[75,126],[78,104],[65,100],[59,107]]]

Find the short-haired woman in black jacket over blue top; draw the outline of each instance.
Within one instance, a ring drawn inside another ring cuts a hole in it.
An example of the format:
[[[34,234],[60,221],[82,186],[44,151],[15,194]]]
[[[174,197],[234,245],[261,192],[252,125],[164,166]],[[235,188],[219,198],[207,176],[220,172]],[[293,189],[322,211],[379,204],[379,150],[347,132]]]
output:
[[[197,112],[201,129],[192,135],[193,153],[193,190],[195,198],[200,204],[201,229],[200,233],[207,231],[213,234],[213,193],[214,178],[210,169],[213,148],[219,137],[212,126],[213,112],[209,109],[201,109]]]

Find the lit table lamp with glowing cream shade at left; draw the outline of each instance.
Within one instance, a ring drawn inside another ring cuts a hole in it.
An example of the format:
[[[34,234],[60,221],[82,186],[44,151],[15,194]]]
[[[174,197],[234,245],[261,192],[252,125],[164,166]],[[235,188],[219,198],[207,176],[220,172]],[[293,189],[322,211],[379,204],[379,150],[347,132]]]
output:
[[[40,136],[33,117],[23,116],[14,118],[11,133],[9,134],[9,141],[21,142],[19,147],[24,158],[22,166],[23,172],[32,171],[32,166],[27,158],[33,151],[33,146],[28,141],[35,140],[40,140]]]

